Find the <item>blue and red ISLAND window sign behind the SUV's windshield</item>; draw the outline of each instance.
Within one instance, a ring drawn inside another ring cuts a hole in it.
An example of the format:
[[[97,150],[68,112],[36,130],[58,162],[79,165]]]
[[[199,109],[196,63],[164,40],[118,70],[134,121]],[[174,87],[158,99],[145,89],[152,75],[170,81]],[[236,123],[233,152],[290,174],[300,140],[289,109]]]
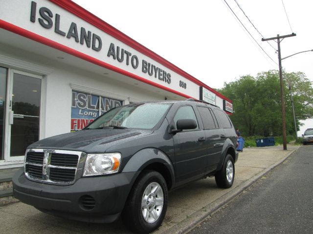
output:
[[[72,91],[70,131],[85,128],[99,115],[121,105],[120,100]]]

